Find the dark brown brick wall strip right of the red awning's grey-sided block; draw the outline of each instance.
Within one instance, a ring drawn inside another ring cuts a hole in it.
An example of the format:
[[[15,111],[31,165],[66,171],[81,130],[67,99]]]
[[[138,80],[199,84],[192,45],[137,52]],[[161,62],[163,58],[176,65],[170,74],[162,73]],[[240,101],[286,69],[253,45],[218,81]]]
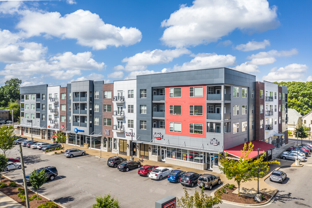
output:
[[[256,123],[255,123],[255,129],[256,129],[256,140],[264,140],[264,111],[263,113],[260,113],[260,105],[263,105],[264,108],[264,99],[265,96],[263,95],[263,98],[260,98],[260,90],[263,90],[264,93],[264,83],[263,82],[256,82],[256,106],[255,106],[255,113],[256,113]],[[263,128],[260,128],[260,120],[263,120]]]

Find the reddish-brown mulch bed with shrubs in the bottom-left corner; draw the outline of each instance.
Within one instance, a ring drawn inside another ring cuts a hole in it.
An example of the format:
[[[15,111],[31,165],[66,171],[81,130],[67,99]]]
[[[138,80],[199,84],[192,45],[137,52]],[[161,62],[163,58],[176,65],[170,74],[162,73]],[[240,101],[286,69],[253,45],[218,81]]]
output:
[[[0,191],[2,193],[4,193],[5,195],[9,196],[10,198],[12,198],[13,200],[17,201],[21,205],[26,207],[26,201],[22,201],[22,199],[17,196],[17,194],[20,192],[20,191],[17,191],[17,188],[22,188],[24,190],[24,186],[20,186],[19,184],[16,184],[17,187],[11,187],[11,186],[9,186],[9,184],[10,184],[10,182],[14,182],[14,181],[10,181],[9,179],[7,179],[5,177],[2,177],[1,182],[7,184],[7,186],[4,188],[0,188]],[[28,197],[30,198],[33,195],[36,195],[36,193],[28,190]],[[50,201],[50,200],[47,200],[45,197],[42,197],[40,195],[39,195],[39,197],[41,198],[41,200],[38,199],[38,203],[37,203],[37,198],[35,198],[34,200],[29,202],[30,208],[37,208],[37,206],[39,206],[40,204],[45,204],[47,201]],[[60,208],[60,206],[58,206],[58,207]]]

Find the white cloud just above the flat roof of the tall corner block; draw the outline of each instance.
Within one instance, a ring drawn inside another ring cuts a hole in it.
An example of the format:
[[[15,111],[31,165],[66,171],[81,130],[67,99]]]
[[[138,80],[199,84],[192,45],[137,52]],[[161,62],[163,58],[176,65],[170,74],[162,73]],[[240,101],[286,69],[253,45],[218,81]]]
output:
[[[163,69],[163,72],[227,67],[234,65],[235,59],[235,56],[229,54],[217,55],[216,53],[198,53],[190,62],[185,62],[182,66],[175,65],[172,69]]]

